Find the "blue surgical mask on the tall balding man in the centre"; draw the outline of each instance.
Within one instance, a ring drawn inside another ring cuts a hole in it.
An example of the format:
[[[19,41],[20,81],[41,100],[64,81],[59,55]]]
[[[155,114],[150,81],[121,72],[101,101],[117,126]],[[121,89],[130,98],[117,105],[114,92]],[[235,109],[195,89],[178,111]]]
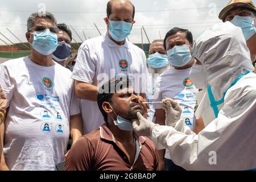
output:
[[[109,34],[112,38],[117,41],[121,42],[125,40],[127,36],[131,34],[131,27],[133,23],[121,21],[121,20],[109,20]]]

